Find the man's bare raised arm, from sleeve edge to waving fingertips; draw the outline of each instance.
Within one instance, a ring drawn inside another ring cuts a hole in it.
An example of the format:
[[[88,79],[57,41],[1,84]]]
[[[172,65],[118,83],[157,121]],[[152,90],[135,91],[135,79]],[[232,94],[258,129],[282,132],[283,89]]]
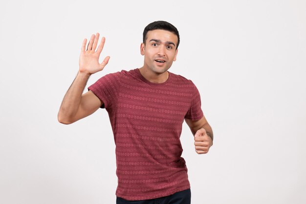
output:
[[[96,36],[92,35],[87,45],[87,50],[85,50],[87,39],[83,41],[79,72],[69,87],[58,113],[58,121],[61,123],[70,124],[76,122],[91,115],[103,105],[103,102],[92,91],[89,90],[87,93],[82,94],[90,75],[103,70],[109,61],[108,56],[102,63],[99,63],[99,56],[103,49],[105,38],[102,38],[97,51],[95,51],[98,40],[99,33]]]

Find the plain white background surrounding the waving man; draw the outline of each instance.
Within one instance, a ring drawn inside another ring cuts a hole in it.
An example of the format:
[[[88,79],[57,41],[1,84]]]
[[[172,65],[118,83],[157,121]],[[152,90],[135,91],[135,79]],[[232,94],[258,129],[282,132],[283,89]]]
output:
[[[181,141],[193,204],[306,203],[306,1],[1,1],[0,203],[114,204],[107,112],[57,121],[84,38],[106,37],[107,73],[143,65],[144,27],[174,24],[169,71],[198,87],[215,140]],[[87,86],[85,91],[87,91]]]

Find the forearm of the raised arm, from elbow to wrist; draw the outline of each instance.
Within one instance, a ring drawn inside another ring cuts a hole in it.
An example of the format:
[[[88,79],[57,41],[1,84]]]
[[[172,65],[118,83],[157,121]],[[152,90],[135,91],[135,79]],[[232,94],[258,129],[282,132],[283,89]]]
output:
[[[61,104],[58,121],[61,123],[70,123],[70,120],[75,116],[81,103],[82,93],[90,75],[83,72],[78,72],[76,78],[72,82],[66,92]]]

